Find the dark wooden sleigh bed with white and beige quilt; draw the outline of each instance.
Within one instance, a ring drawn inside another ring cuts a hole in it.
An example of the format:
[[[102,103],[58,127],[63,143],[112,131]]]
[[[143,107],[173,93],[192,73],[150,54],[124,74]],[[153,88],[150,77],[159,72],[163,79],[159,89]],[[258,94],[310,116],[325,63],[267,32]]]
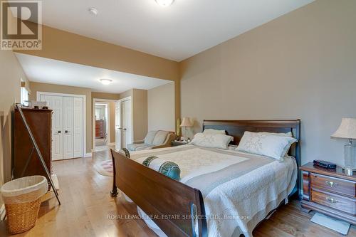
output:
[[[231,144],[239,144],[245,131],[292,132],[300,138],[300,120],[204,120],[205,129],[226,130],[234,137]],[[111,194],[116,196],[120,189],[167,236],[251,236],[281,202],[299,196],[299,144],[290,148],[284,162],[192,145],[135,152],[131,159],[112,150]],[[182,179],[170,179],[140,164],[152,155],[180,162]]]

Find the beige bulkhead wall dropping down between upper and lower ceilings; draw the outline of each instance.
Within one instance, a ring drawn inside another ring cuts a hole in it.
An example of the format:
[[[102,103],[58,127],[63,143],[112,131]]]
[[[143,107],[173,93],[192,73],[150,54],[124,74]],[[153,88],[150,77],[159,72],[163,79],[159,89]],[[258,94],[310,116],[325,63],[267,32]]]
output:
[[[179,63],[140,51],[43,26],[41,51],[19,51],[44,58],[107,68],[175,82],[175,117],[180,117]]]

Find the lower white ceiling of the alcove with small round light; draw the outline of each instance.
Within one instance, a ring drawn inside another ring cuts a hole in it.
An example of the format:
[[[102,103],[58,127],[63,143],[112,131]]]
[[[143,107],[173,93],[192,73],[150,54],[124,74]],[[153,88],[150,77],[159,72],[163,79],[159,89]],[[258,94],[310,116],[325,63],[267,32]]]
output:
[[[172,83],[169,80],[121,73],[115,70],[67,63],[22,53],[16,53],[16,56],[28,80],[38,83],[78,86],[105,93],[122,93],[132,88],[150,90],[159,85]],[[103,85],[99,81],[100,78],[109,78],[112,83]]]

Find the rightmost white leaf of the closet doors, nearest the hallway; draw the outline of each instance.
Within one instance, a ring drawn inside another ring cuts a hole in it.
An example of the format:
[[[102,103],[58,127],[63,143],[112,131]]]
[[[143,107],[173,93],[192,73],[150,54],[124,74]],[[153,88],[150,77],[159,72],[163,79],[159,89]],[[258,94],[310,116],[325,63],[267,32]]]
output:
[[[83,98],[73,98],[73,152],[74,157],[83,156]]]

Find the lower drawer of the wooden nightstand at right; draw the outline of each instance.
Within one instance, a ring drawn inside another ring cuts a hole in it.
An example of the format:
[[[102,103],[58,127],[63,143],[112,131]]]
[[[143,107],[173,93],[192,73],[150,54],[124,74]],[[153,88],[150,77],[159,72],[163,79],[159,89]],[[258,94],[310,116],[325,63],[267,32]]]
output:
[[[311,201],[323,206],[329,206],[333,209],[345,211],[352,215],[356,214],[355,199],[349,199],[336,194],[312,190]]]

